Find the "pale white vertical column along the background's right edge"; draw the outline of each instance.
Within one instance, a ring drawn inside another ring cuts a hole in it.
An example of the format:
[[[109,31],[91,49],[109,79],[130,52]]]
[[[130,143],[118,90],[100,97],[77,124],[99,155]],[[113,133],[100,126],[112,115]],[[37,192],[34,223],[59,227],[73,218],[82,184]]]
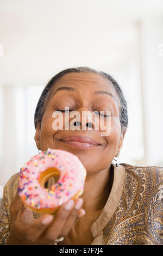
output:
[[[145,161],[163,165],[163,17],[145,19],[140,25],[141,72],[144,112]]]

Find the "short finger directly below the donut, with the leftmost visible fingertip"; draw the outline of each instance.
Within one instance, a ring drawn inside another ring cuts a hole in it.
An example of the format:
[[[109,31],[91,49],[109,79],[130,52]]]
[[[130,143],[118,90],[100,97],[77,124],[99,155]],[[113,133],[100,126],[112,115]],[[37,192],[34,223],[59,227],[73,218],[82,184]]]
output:
[[[38,240],[43,231],[52,223],[53,218],[53,215],[45,214],[36,219],[34,223],[27,228],[26,238],[31,242]]]

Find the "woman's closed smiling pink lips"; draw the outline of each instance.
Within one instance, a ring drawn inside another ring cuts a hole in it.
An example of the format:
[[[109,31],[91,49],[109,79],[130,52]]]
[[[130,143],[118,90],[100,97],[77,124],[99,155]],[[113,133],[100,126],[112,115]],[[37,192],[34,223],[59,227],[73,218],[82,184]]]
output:
[[[79,149],[95,148],[101,145],[93,139],[85,136],[70,136],[62,138],[60,141]]]

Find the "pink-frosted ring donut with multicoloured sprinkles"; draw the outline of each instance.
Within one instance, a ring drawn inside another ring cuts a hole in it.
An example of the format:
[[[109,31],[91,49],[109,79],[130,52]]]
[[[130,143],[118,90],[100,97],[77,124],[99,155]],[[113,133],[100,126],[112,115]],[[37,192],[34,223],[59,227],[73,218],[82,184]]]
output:
[[[50,188],[51,177],[59,178]],[[56,149],[47,149],[31,157],[20,169],[18,195],[27,209],[40,214],[55,214],[70,199],[81,196],[86,170],[77,156]]]

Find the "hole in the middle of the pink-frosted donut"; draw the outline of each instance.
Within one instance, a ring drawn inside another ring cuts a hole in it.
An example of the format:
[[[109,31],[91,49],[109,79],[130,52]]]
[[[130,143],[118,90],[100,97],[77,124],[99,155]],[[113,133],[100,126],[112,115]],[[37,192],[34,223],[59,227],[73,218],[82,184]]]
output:
[[[51,167],[40,173],[39,183],[43,188],[51,187],[56,184],[60,178],[58,169]]]

